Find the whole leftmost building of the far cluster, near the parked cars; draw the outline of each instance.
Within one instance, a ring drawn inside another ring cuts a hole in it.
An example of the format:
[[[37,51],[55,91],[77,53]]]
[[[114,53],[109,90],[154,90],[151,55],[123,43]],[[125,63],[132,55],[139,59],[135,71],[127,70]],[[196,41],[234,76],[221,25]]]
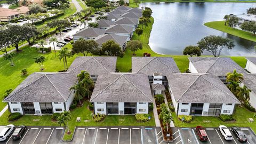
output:
[[[84,38],[84,39],[95,39],[99,35],[105,34],[105,29],[100,29],[100,28],[86,28],[75,35],[74,37],[74,42],[77,41],[79,38]]]

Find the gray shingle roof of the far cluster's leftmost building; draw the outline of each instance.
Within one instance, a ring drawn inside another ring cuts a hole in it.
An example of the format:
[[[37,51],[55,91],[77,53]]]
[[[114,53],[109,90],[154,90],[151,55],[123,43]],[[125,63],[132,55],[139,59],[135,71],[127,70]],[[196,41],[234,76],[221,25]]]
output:
[[[79,31],[73,36],[79,36],[79,37],[97,37],[99,35],[105,34],[105,29],[100,28],[86,28],[84,30]]]

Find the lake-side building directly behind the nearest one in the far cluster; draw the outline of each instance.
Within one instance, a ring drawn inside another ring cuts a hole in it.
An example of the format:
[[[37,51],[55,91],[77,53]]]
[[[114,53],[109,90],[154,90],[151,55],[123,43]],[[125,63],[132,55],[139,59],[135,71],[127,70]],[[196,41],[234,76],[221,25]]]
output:
[[[112,25],[110,27],[108,27],[106,30],[106,34],[116,34],[119,36],[128,36],[129,39],[128,41],[130,41],[130,39],[132,38],[133,35],[133,27],[131,26],[126,26],[126,25]]]

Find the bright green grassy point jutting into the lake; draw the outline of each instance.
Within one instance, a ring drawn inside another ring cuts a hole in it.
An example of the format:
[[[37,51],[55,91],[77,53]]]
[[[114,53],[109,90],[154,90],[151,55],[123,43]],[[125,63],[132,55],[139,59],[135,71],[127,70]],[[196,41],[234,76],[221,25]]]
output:
[[[234,35],[237,37],[242,37],[244,39],[248,39],[250,41],[256,42],[256,36],[252,33],[249,33],[244,30],[239,29],[233,29],[231,27],[225,26],[225,21],[212,21],[212,22],[206,22],[204,23],[205,26],[214,28],[220,31],[223,31],[225,33],[228,33],[230,35]]]

